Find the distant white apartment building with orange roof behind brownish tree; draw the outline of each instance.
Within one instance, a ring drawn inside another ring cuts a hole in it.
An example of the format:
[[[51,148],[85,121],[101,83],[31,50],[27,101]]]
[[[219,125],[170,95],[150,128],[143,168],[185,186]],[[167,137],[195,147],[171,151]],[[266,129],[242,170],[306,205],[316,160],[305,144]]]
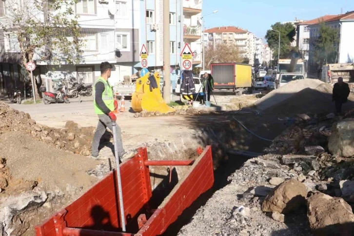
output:
[[[256,38],[251,32],[235,26],[222,26],[204,30],[204,38],[211,45],[233,43],[239,46],[242,56],[248,58],[250,64],[254,64]]]

